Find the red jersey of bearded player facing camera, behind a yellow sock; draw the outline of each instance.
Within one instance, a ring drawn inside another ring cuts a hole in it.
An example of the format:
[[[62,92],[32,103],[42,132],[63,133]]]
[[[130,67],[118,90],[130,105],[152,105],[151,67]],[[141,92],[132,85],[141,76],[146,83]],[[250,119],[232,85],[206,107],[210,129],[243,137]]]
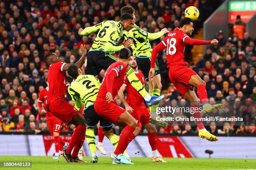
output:
[[[138,70],[138,72],[135,72],[135,75],[138,77],[138,79],[141,81],[141,83],[145,84],[145,77],[141,70]],[[128,104],[134,109],[134,108],[140,108],[140,107],[146,107],[144,104],[144,98],[141,96],[141,94],[131,85],[131,83],[128,81],[128,79],[125,79],[125,82],[123,85],[126,86],[126,101]]]

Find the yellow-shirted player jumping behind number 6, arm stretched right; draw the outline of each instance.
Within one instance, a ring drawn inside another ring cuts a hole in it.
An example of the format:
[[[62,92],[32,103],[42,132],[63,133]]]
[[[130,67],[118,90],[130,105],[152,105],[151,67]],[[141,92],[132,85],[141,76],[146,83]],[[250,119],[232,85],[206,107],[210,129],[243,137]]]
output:
[[[142,28],[138,27],[135,24],[135,10],[132,6],[125,6],[122,7],[121,15],[123,13],[129,13],[133,15],[133,27],[129,31],[124,31],[124,38],[125,40],[133,40],[131,44],[131,48],[133,50],[133,56],[136,57],[136,62],[138,63],[139,69],[142,71],[145,80],[148,81],[148,72],[150,70],[150,61],[151,61],[151,52],[152,47],[149,43],[149,40],[155,40],[164,34],[168,33],[169,31],[167,28],[163,28],[161,31],[156,33],[149,33],[144,31]],[[148,93],[152,96],[160,96],[161,92],[161,76],[160,70],[158,66],[158,60],[156,59],[155,64],[155,76],[152,78],[151,81],[148,81],[149,90]],[[152,105],[149,107],[151,114],[156,112],[156,108],[159,104]],[[158,124],[159,125],[159,124]]]

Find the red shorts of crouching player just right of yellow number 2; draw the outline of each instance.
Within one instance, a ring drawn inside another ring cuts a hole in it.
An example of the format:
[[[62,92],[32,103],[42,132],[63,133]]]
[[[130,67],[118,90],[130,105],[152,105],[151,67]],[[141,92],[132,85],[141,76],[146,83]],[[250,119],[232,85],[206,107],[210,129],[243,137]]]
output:
[[[115,123],[120,115],[126,111],[113,102],[107,103],[95,101],[94,109],[98,115],[112,123]]]

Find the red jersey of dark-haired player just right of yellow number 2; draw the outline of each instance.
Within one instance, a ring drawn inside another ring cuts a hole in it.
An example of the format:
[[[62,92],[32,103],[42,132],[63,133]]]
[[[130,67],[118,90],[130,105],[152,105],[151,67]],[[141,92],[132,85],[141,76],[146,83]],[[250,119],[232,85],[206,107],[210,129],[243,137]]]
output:
[[[114,71],[111,71],[111,70],[114,70]],[[106,79],[110,74],[115,74],[115,76],[117,75],[117,77],[115,77],[114,84],[112,87],[112,97],[114,99],[120,87],[123,85],[123,82],[125,80],[125,73],[126,73],[126,65],[123,62],[117,61],[111,64],[105,72],[105,76],[104,76],[104,79],[102,80],[102,84],[100,86],[100,90],[98,92],[96,101],[106,102],[106,94],[107,94]]]

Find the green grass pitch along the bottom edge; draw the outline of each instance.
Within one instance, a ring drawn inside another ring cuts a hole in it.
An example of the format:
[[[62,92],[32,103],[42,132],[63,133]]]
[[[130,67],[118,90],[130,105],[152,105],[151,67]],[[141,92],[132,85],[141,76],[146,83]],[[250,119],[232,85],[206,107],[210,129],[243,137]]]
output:
[[[0,168],[0,170],[245,170],[256,169],[253,159],[164,158],[167,163],[152,163],[150,158],[133,158],[134,165],[113,165],[109,157],[99,157],[99,163],[67,163],[64,158],[53,160],[45,156],[0,156],[0,161],[31,161],[32,168]]]

